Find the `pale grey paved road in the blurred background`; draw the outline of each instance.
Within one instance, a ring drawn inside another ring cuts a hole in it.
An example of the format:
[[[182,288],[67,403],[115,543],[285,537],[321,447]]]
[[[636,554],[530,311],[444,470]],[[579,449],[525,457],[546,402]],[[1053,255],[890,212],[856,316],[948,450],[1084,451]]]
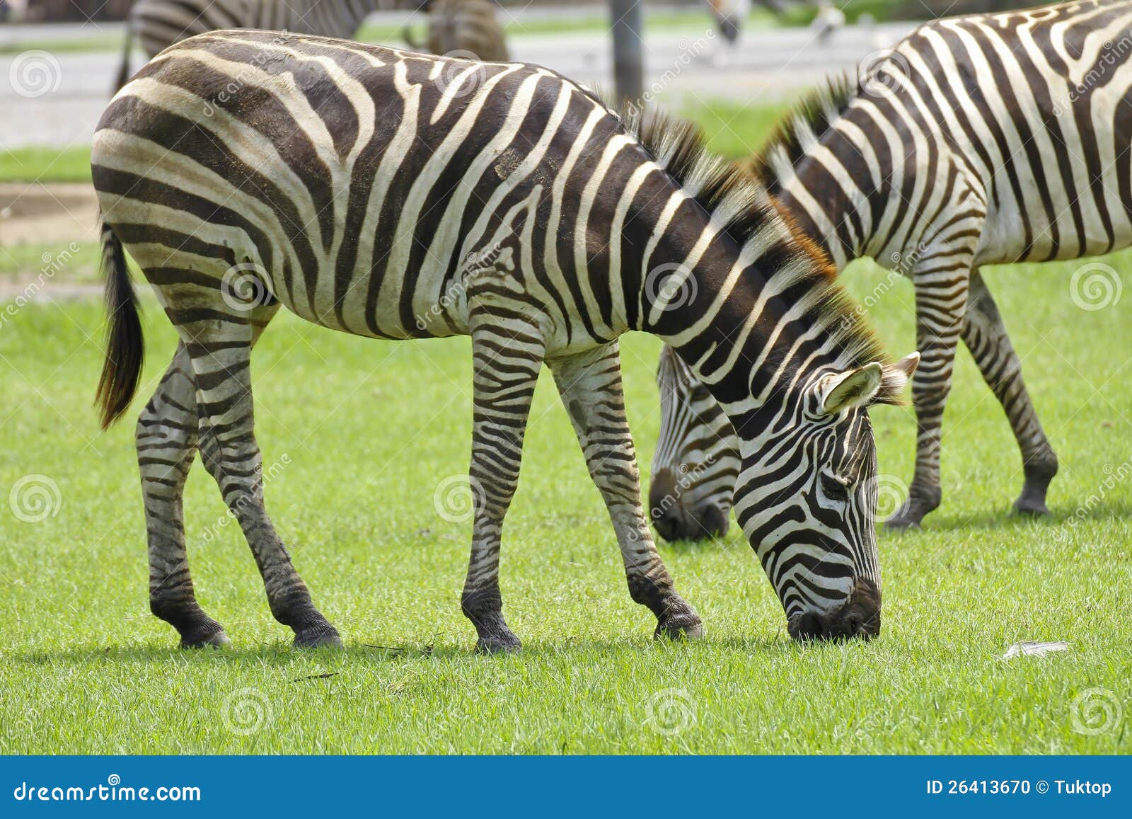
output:
[[[887,48],[910,24],[849,27],[824,42],[805,28],[747,31],[727,48],[704,18],[703,28],[645,35],[646,86],[666,104],[729,99],[774,102],[797,94],[831,71],[856,71],[871,53]],[[58,29],[58,34],[52,31]],[[80,34],[77,27],[31,29],[35,40]],[[0,42],[28,37],[29,27],[0,29]],[[102,25],[113,33],[120,26]],[[84,34],[88,36],[89,32]],[[537,62],[589,85],[611,87],[609,37],[592,34],[515,36],[513,58]],[[23,52],[0,57],[0,148],[22,145],[85,145],[110,97],[118,52]],[[135,58],[135,68],[143,59]]]

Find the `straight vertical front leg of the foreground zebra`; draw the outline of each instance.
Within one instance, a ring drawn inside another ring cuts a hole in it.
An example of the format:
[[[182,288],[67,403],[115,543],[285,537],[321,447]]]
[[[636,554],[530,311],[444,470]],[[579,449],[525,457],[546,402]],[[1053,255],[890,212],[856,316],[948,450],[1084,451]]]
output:
[[[520,309],[509,316],[522,316]],[[480,651],[512,651],[522,645],[503,618],[499,543],[503,519],[518,485],[523,433],[542,367],[543,342],[537,325],[492,321],[472,307],[472,463],[475,505],[472,554],[461,597]]]

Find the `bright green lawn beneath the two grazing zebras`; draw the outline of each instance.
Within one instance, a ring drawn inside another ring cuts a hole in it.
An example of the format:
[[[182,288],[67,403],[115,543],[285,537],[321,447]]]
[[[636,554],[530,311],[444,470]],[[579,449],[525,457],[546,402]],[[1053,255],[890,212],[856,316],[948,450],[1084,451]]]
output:
[[[468,341],[366,341],[284,315],[255,358],[265,464],[284,464],[268,481],[268,509],[348,648],[289,647],[241,536],[217,526],[224,510],[198,466],[186,497],[194,578],[234,646],[178,651],[147,611],[132,426],[100,435],[89,406],[98,306],[3,315],[0,495],[43,475],[60,502],[37,523],[0,504],[0,752],[1127,752],[1132,489],[1117,481],[1077,526],[1066,521],[1101,492],[1106,464],[1127,458],[1132,325],[1123,301],[1077,308],[1071,270],[989,273],[1062,455],[1054,519],[1007,517],[1019,458],[961,353],[943,506],[923,531],[882,532],[884,630],[867,645],[791,643],[734,527],[719,543],[661,547],[706,637],[653,642],[544,378],[503,551],[506,613],[525,648],[473,655],[458,606],[470,527],[434,507],[438,483],[466,469]],[[844,279],[864,298],[883,274],[858,265]],[[1123,287],[1132,292],[1126,272]],[[900,282],[872,312],[894,353],[912,347],[910,300]],[[148,395],[174,338],[152,301],[145,323]],[[637,335],[624,349],[648,464],[659,345]],[[911,410],[872,415],[882,472],[907,479]],[[1027,639],[1064,639],[1071,650],[1000,659]],[[1078,733],[1074,698],[1096,688],[1123,717]],[[257,707],[257,730],[231,730]],[[657,730],[681,713],[681,731]]]

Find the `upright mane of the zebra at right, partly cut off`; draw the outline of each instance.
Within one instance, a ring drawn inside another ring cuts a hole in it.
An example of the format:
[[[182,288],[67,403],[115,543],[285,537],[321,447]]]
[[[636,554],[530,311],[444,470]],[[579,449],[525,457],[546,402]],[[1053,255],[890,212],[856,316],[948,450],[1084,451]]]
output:
[[[743,164],[763,187],[777,193],[779,180],[833,127],[859,91],[859,84],[846,74],[830,77],[806,94],[774,127],[762,150]]]

